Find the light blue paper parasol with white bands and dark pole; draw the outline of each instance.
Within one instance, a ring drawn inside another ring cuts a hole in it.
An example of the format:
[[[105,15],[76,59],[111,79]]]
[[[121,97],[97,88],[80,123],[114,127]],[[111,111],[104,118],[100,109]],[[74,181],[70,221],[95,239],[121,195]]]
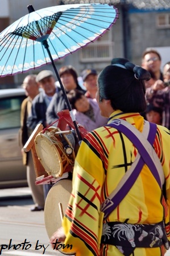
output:
[[[109,30],[118,18],[118,10],[107,4],[92,3],[38,11],[30,5],[28,11],[29,14],[0,34],[0,77],[52,63],[71,113],[54,61],[81,49]]]

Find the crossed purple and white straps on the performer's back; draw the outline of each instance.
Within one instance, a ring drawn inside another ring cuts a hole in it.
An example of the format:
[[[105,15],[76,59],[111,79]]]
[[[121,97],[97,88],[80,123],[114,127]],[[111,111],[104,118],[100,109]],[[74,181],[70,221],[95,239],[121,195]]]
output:
[[[125,134],[138,149],[138,154],[130,169],[126,171],[124,177],[118,183],[116,189],[102,203],[101,211],[105,214],[104,219],[108,217],[126,196],[132,185],[134,185],[145,163],[154,175],[160,189],[162,189],[164,184],[163,167],[154,148],[151,146],[155,141],[157,126],[154,123],[144,121],[143,133],[140,133],[134,126],[122,119],[114,119],[107,126],[114,127]]]

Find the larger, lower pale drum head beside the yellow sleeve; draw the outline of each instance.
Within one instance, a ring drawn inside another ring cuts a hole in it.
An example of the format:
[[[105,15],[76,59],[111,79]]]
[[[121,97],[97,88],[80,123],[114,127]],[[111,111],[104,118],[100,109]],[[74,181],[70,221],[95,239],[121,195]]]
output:
[[[62,203],[63,213],[65,213],[71,192],[72,181],[70,179],[61,179],[48,192],[44,207],[44,221],[49,238],[61,227],[59,203]]]

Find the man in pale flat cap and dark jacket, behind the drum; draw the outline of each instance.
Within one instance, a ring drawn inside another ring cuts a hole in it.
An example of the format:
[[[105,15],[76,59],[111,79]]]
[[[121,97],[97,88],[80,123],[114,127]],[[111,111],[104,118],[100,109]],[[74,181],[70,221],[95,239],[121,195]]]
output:
[[[47,107],[51,102],[53,95],[60,90],[59,87],[56,87],[53,73],[50,70],[40,71],[36,76],[36,82],[43,91],[40,92],[32,101],[31,114],[27,119],[27,127],[32,130],[34,130],[39,123],[42,123],[44,127],[47,126]],[[49,189],[51,189],[50,185],[43,185],[44,198],[47,197]]]

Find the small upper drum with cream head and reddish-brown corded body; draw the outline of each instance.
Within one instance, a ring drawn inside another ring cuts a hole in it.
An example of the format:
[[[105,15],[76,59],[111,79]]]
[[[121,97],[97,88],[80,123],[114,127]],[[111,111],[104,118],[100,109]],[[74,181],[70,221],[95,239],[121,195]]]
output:
[[[48,175],[57,178],[73,170],[74,145],[59,128],[49,127],[45,132],[36,135],[35,150]]]

